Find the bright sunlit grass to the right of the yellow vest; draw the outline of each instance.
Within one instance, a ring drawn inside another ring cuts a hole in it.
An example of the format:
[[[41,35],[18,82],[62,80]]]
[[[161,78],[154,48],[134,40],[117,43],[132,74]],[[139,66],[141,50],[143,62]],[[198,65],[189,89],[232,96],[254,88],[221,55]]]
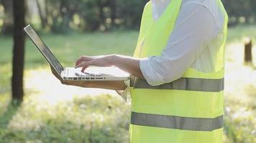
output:
[[[237,26],[229,29],[225,72],[224,129],[227,142],[256,142],[256,71],[246,66],[244,37],[256,41],[256,26]],[[256,48],[252,49],[256,65]]]

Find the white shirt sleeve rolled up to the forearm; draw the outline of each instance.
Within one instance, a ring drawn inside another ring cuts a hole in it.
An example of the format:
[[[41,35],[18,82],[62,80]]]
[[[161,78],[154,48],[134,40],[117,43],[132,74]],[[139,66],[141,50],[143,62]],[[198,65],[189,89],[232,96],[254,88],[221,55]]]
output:
[[[157,86],[182,77],[218,30],[209,9],[200,4],[184,4],[161,55],[140,60],[148,84]]]

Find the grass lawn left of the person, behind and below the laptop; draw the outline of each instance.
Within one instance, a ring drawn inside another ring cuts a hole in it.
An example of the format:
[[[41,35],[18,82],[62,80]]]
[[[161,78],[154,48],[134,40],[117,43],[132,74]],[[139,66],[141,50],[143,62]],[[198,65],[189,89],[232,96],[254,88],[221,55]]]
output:
[[[64,66],[73,66],[81,55],[131,55],[136,38],[135,31],[42,35]],[[60,85],[50,77],[47,62],[29,39],[25,53],[26,96],[19,108],[9,106],[12,37],[1,36],[0,43],[0,142],[129,141],[129,104],[114,92]]]

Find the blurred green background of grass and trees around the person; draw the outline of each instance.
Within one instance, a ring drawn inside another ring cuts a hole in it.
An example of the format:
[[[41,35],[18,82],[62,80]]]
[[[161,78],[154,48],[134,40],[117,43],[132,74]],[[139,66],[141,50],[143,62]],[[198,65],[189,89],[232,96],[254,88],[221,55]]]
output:
[[[73,66],[81,55],[132,56],[146,2],[26,0],[26,21],[64,66]],[[256,39],[256,1],[223,2],[229,13],[224,142],[256,142],[256,58],[244,65],[244,38]],[[60,84],[29,39],[24,99],[11,104],[12,11],[12,0],[0,0],[0,142],[129,142],[130,103],[111,90]]]

